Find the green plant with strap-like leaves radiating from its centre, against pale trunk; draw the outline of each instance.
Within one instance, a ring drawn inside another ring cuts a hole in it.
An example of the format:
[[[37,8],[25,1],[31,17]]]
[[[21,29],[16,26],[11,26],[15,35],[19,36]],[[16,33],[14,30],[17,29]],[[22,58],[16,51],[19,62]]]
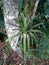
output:
[[[20,32],[17,34],[20,38],[20,47],[24,52],[26,52],[27,50],[30,50],[30,45],[33,46],[33,41],[35,41],[36,43],[38,42],[35,33],[43,34],[41,30],[34,29],[35,27],[40,26],[43,23],[30,26],[33,21],[27,21],[23,13],[21,13],[19,21],[16,21],[16,23],[19,24],[18,29],[15,30],[20,30]]]

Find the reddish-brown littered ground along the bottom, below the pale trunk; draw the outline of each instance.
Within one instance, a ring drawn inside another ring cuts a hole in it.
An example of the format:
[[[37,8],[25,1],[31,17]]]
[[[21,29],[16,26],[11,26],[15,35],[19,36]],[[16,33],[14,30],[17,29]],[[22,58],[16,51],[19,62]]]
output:
[[[11,48],[8,48],[4,41],[5,37],[6,37],[5,34],[3,34],[2,36],[0,34],[0,65],[24,65],[24,61],[21,57],[19,57],[18,53],[14,52]],[[39,60],[38,58],[30,58],[28,59],[26,64],[49,65],[49,59]]]

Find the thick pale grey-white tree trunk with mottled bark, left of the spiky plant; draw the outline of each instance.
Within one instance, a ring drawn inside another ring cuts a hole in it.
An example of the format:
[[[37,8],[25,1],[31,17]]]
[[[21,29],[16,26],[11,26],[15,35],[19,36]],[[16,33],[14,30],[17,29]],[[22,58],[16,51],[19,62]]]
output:
[[[18,12],[18,0],[2,0],[2,1],[4,5],[5,28],[6,28],[8,37],[11,37],[14,34],[17,34],[19,32],[19,30],[13,30],[17,28],[16,26],[13,26],[13,25],[16,24],[15,19],[18,18],[18,13],[19,13]],[[10,23],[12,23],[13,25],[11,25]],[[10,41],[10,45],[14,51],[19,52],[19,47],[16,47],[18,38],[19,36],[14,37]]]

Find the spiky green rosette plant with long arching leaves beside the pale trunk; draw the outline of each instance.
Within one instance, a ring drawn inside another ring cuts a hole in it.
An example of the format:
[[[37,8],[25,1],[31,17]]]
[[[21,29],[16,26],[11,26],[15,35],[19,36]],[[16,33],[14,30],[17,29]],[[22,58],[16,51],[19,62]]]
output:
[[[11,41],[13,37],[19,36],[18,42],[20,41],[20,48],[21,50],[23,50],[25,54],[28,54],[28,52],[34,50],[39,51],[39,46],[40,46],[39,39],[42,36],[46,36],[44,32],[42,32],[40,29],[39,30],[37,29],[37,27],[43,25],[43,23],[32,25],[33,22],[34,21],[32,19],[28,21],[27,18],[24,16],[24,14],[21,13],[18,20],[16,20],[16,24],[18,25],[16,26],[16,29],[14,29],[14,30],[19,30],[20,32],[17,35],[13,35],[11,38],[9,38],[9,40]],[[35,48],[33,48],[34,44],[35,44]]]

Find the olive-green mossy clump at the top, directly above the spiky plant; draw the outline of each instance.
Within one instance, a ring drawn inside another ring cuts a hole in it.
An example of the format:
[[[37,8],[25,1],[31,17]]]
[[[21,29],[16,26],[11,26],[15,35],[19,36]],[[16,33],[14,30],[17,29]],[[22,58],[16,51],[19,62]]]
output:
[[[25,16],[31,16],[34,9],[34,1],[33,0],[25,0],[24,6],[24,14]]]

